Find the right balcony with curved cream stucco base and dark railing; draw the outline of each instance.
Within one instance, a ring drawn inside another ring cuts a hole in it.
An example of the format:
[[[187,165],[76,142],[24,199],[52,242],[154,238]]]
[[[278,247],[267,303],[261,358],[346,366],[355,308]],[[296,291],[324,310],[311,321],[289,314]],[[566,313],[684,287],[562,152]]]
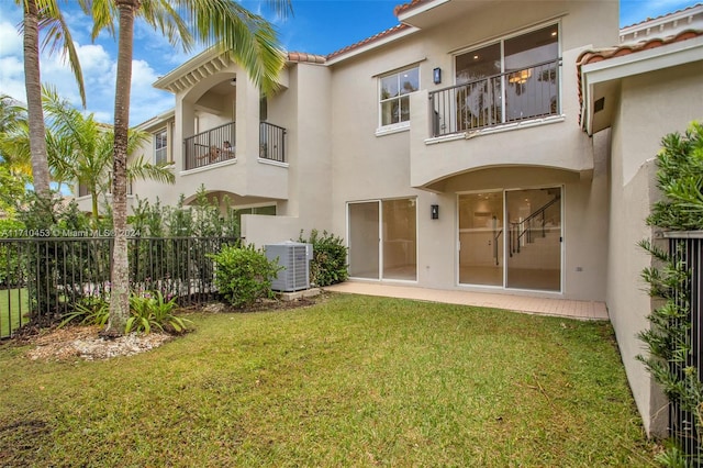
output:
[[[473,54],[468,56],[472,58]],[[411,185],[444,192],[467,172],[500,167],[590,177],[592,142],[579,134],[574,100],[561,99],[576,96],[578,85],[561,71],[560,58],[532,60],[481,79],[410,94]]]

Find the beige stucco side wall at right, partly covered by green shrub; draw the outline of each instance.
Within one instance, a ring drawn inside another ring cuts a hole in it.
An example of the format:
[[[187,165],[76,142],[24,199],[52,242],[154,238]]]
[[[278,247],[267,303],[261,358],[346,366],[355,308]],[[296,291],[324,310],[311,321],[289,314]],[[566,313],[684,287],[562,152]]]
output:
[[[651,310],[640,279],[650,258],[636,243],[655,232],[645,219],[659,197],[654,159],[661,137],[703,119],[700,70],[698,63],[623,79],[612,132],[607,307],[637,408],[654,434],[666,430],[666,411],[660,411],[666,401],[635,359],[644,353],[635,334],[649,326]]]

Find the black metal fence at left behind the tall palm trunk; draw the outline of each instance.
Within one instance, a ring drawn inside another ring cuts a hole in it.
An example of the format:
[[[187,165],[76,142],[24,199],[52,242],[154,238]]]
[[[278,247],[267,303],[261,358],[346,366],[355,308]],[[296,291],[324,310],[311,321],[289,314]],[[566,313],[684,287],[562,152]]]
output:
[[[161,291],[179,305],[216,297],[213,261],[234,237],[133,237],[130,288]],[[30,321],[52,321],[88,298],[109,300],[111,237],[1,238],[0,337]]]

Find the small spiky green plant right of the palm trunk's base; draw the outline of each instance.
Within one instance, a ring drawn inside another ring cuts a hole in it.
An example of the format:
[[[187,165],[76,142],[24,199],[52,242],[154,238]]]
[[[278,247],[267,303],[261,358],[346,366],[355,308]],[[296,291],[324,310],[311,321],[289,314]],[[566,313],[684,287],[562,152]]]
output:
[[[161,291],[132,294],[130,297],[131,316],[125,333],[150,333],[152,328],[167,333],[185,333],[192,322],[174,314],[176,298],[166,300]]]

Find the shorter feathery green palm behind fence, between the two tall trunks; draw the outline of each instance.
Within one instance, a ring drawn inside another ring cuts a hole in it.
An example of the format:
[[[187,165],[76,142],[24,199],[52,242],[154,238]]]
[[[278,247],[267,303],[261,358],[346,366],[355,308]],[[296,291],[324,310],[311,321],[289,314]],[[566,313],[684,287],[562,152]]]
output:
[[[56,180],[74,181],[85,186],[91,197],[93,222],[98,222],[100,196],[110,192],[110,170],[113,158],[114,134],[110,125],[96,122],[93,114],[83,115],[68,101],[59,98],[53,88],[44,88],[43,105],[49,132],[49,166]],[[127,152],[134,153],[149,138],[145,132],[129,131]],[[149,179],[174,183],[174,172],[165,164],[153,165],[143,157],[127,166],[127,181]]]

